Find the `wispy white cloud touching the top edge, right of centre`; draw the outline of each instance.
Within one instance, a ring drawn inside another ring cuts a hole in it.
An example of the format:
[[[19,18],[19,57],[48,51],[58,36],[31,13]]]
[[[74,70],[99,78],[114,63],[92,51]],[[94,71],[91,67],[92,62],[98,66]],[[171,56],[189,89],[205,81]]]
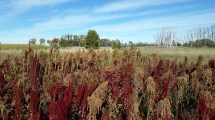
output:
[[[178,2],[187,2],[191,0],[122,0],[106,4],[95,9],[95,13],[109,13],[123,10],[138,9],[155,5],[165,5]]]

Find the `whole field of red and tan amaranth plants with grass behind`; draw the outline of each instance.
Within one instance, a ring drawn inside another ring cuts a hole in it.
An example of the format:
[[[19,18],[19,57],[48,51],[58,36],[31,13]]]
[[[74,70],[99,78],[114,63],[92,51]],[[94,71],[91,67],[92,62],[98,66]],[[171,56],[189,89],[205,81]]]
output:
[[[212,120],[214,51],[1,50],[0,119]]]

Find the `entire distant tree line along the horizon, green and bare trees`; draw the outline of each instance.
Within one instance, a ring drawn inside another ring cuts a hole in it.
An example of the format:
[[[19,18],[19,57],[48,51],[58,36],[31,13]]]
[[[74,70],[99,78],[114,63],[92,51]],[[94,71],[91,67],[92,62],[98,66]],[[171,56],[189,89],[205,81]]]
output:
[[[55,38],[56,39],[56,38]],[[123,43],[121,40],[100,39],[98,33],[95,30],[89,30],[86,35],[62,35],[58,39],[59,47],[86,47],[86,48],[99,48],[99,47],[144,47],[144,46],[158,46],[158,47],[215,47],[215,25],[200,26],[190,30],[184,35],[184,40],[179,38],[176,30],[172,27],[164,27],[154,35],[155,44],[153,43]],[[41,45],[45,45],[47,42],[50,46],[53,44],[53,40],[45,40],[41,38],[39,40]],[[36,44],[36,38],[31,38],[29,43]]]

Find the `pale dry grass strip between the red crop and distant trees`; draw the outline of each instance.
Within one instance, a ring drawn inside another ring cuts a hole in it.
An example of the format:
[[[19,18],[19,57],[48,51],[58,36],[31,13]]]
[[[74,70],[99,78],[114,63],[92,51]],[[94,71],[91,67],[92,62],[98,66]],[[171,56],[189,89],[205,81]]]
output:
[[[8,55],[16,56],[23,49],[27,49],[28,44],[2,44],[0,50],[0,63]],[[32,45],[33,49],[48,48],[47,46],[41,45]],[[174,47],[174,48],[158,48],[158,47],[138,47],[138,50],[141,50],[146,55],[157,54],[159,57],[168,59],[182,61],[185,56],[188,57],[190,62],[195,62],[199,55],[202,55],[204,60],[203,63],[206,63],[210,59],[215,59],[215,48],[187,48],[187,47]],[[86,51],[84,47],[71,47],[71,48],[60,48],[60,52],[76,52],[78,50]],[[110,47],[100,47],[100,50],[109,50],[113,51]]]

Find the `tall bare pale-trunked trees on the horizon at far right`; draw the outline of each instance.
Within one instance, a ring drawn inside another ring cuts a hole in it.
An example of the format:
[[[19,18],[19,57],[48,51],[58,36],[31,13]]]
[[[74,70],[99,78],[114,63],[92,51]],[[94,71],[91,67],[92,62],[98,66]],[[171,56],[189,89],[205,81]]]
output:
[[[215,43],[215,25],[200,26],[190,29],[182,39],[177,37],[177,32],[171,27],[164,27],[158,31],[155,36],[156,45],[159,47],[188,46],[188,47],[214,47]]]

